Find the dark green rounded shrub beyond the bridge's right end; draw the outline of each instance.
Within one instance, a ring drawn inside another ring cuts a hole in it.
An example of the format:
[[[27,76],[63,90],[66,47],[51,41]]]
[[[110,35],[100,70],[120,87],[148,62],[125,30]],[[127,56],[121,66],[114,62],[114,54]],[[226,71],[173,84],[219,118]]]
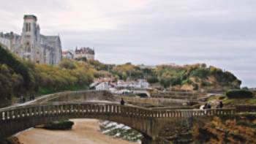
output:
[[[246,90],[233,90],[233,91],[227,91],[226,93],[228,98],[252,98],[254,94],[251,91]]]

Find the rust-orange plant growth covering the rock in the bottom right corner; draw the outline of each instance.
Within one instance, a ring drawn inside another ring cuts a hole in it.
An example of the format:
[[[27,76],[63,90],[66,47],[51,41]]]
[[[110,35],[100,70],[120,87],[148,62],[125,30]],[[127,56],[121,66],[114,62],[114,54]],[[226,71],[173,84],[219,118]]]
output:
[[[256,143],[256,129],[246,118],[214,118],[192,130],[197,143]]]

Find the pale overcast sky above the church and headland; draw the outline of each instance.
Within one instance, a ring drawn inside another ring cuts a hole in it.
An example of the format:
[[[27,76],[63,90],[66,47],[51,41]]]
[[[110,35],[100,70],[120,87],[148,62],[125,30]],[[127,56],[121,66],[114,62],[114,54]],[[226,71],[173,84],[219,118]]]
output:
[[[89,46],[111,64],[206,63],[256,87],[255,0],[0,0],[0,31],[23,15],[64,50]]]

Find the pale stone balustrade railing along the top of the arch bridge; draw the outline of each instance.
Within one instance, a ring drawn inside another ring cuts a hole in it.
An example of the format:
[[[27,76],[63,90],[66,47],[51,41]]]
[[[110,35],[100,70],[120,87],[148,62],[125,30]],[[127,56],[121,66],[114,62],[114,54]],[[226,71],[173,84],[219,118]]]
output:
[[[211,110],[150,110],[132,105],[118,105],[113,103],[72,102],[52,103],[44,105],[26,105],[0,110],[0,121],[23,117],[48,115],[120,115],[122,117],[138,118],[187,118],[211,115],[233,115],[236,109]],[[72,116],[71,116],[72,117]]]

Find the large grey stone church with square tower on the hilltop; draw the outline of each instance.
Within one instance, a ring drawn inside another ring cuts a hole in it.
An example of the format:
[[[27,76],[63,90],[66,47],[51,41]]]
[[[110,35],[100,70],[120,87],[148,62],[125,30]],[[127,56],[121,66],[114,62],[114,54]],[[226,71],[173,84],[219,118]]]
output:
[[[60,37],[40,34],[37,17],[34,15],[24,15],[21,35],[1,32],[0,44],[21,58],[38,64],[56,65],[61,61]]]

